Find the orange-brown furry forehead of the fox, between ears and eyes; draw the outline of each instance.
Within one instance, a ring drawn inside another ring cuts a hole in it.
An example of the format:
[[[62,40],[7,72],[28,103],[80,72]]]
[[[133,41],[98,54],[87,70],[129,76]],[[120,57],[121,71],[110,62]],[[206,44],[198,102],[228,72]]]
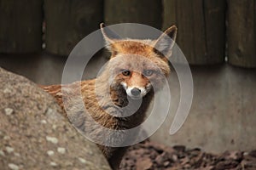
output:
[[[169,74],[170,68],[165,59],[160,58],[154,51],[154,40],[125,39],[111,44],[113,50],[110,59],[110,70],[127,69],[143,71],[152,69]],[[116,71],[115,71],[116,72]]]

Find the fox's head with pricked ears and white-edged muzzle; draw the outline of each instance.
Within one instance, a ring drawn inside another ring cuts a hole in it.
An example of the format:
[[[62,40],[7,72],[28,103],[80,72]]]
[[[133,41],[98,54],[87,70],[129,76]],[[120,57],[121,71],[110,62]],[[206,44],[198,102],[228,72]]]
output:
[[[162,88],[170,72],[168,57],[177,35],[171,26],[156,40],[122,39],[104,24],[102,35],[111,52],[107,70],[111,88],[123,88],[131,99]]]

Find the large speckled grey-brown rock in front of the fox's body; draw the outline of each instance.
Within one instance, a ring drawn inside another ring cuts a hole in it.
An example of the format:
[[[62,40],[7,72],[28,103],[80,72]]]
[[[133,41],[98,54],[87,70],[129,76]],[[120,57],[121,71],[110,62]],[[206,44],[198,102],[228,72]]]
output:
[[[0,98],[1,170],[110,169],[36,84],[0,68]]]

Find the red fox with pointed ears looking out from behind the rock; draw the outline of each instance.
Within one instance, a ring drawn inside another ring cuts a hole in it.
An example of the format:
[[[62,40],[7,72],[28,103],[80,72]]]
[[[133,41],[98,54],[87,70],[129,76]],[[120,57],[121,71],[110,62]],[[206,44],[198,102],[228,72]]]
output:
[[[166,57],[172,54],[177,27],[171,26],[156,40],[122,39],[103,24],[101,24],[101,30],[107,42],[107,48],[112,54],[102,74],[93,80],[43,88],[54,96],[61,105],[63,113],[75,127],[82,132],[89,131],[92,135],[104,140],[110,137],[108,134],[102,134],[93,122],[88,121],[88,116],[100,126],[109,129],[125,130],[140,125],[154,93],[162,87],[163,79],[170,73]],[[80,87],[79,92],[76,90],[78,87]],[[68,88],[67,93],[63,94],[61,88]],[[70,99],[70,96],[80,94],[86,111],[81,109],[83,108],[81,104]],[[120,108],[130,105],[129,102],[137,103],[138,99],[141,99],[142,103],[137,111],[132,115],[124,116],[125,112]],[[122,117],[115,116],[116,114]],[[119,143],[127,139],[125,135],[114,138],[117,138],[115,140]],[[102,144],[98,146],[108,159],[110,166],[118,169],[126,147],[110,147]]]

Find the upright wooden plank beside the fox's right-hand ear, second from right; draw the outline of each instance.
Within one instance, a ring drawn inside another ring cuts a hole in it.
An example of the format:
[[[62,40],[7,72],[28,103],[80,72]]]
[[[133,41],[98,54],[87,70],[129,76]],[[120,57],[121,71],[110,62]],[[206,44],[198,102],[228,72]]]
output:
[[[177,25],[177,45],[189,64],[224,62],[225,1],[164,0],[163,30]]]

